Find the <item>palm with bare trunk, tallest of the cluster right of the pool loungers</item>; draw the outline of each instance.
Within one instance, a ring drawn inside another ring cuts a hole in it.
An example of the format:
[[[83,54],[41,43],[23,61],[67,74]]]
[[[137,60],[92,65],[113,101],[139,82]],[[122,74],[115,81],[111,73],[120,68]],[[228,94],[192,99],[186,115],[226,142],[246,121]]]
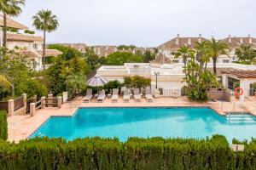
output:
[[[209,47],[209,54],[212,56],[213,72],[214,74],[217,74],[217,58],[221,54],[227,54],[227,50],[229,49],[228,44],[226,44],[225,42],[216,41],[212,37],[212,41],[207,42],[207,45]]]

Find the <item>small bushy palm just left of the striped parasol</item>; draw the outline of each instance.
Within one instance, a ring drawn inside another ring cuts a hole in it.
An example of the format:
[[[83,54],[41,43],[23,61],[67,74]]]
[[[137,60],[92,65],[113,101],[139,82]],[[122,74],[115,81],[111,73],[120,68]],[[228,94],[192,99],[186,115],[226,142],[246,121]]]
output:
[[[86,77],[81,74],[73,74],[67,77],[67,80],[65,84],[67,85],[67,89],[70,92],[71,96],[74,94],[79,94],[84,88],[86,87],[85,85],[86,82]]]

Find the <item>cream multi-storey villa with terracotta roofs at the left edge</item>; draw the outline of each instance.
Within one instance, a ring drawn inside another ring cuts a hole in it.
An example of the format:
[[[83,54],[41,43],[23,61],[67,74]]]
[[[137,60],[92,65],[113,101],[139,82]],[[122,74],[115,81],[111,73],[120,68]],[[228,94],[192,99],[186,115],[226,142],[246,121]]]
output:
[[[42,37],[34,36],[33,34],[25,33],[27,26],[8,18],[7,27],[7,48],[15,49],[20,54],[26,55],[31,64],[35,66],[36,71],[43,69],[43,42]],[[3,46],[3,15],[0,14],[0,47]],[[57,56],[61,54],[55,49],[46,49],[45,56]]]

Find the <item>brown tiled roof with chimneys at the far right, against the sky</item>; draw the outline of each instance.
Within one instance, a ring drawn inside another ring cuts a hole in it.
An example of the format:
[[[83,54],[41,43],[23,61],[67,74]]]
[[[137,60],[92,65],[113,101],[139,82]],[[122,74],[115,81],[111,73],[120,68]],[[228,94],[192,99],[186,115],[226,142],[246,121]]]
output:
[[[256,38],[254,37],[226,37],[221,42],[225,42],[230,48],[237,48],[241,45],[256,47]]]

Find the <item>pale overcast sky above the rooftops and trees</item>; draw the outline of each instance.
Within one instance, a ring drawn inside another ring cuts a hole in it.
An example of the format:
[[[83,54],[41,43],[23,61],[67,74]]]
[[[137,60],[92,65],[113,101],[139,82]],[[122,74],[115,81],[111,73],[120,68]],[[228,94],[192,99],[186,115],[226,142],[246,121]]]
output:
[[[59,20],[48,42],[154,47],[177,33],[256,36],[255,0],[26,0],[17,20],[33,30],[32,16],[39,9],[52,10]]]

